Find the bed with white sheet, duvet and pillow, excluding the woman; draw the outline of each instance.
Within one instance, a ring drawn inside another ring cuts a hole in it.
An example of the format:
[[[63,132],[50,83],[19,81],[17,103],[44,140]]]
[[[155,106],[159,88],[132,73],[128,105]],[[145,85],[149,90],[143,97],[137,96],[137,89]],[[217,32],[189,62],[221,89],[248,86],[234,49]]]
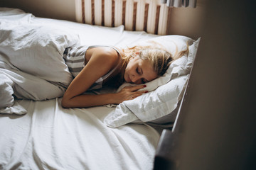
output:
[[[152,40],[173,53],[188,42],[189,53],[149,82],[148,94],[117,106],[61,106],[72,81],[62,58],[65,47],[129,47]],[[0,8],[0,169],[153,169],[161,132],[174,125],[199,41]]]

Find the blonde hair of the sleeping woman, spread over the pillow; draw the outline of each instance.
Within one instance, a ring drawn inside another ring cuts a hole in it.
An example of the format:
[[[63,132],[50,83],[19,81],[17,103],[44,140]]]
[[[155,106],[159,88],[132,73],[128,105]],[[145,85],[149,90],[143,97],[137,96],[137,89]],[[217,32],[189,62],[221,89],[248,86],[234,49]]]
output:
[[[156,72],[156,74],[161,77],[169,68],[171,62],[174,62],[181,56],[188,54],[188,42],[186,50],[183,50],[181,52],[178,52],[178,47],[176,46],[176,53],[174,54],[174,56],[171,55],[171,52],[168,52],[168,50],[166,50],[162,45],[156,42],[153,42],[152,45],[148,46],[128,47],[127,49],[123,49],[122,51],[122,69],[120,75],[122,82],[124,81],[123,77],[125,68],[127,67],[129,60],[136,54],[136,52],[139,52],[139,57],[142,60],[149,61],[151,67],[153,67],[154,69],[154,72]]]

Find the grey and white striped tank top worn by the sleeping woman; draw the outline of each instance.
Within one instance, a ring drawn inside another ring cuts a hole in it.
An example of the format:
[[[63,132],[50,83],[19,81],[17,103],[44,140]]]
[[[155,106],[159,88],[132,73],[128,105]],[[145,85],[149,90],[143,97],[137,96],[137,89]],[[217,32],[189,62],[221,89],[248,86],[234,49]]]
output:
[[[67,64],[68,69],[70,73],[73,75],[73,77],[76,77],[81,70],[85,67],[85,53],[87,49],[94,48],[94,47],[112,47],[108,45],[92,45],[92,46],[79,46],[79,47],[68,47],[65,49],[63,53],[63,59],[65,60],[65,64]],[[117,48],[112,47],[114,50],[116,50],[120,56],[120,62],[122,62],[122,57],[120,52],[117,50]],[[103,77],[100,77],[100,79],[97,79],[94,84],[90,87],[88,90],[95,90],[95,89],[101,89],[102,83],[107,77],[109,77],[119,64],[117,64],[114,69],[112,69],[110,72],[105,74]]]

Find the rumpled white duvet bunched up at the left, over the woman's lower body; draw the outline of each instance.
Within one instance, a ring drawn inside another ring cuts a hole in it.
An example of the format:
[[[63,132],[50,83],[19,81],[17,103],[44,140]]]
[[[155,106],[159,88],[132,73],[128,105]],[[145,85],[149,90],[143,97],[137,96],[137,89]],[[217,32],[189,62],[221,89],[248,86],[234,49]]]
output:
[[[0,113],[21,114],[14,96],[35,101],[63,96],[73,79],[63,52],[80,43],[73,31],[32,23],[31,14],[19,12],[0,14]]]

